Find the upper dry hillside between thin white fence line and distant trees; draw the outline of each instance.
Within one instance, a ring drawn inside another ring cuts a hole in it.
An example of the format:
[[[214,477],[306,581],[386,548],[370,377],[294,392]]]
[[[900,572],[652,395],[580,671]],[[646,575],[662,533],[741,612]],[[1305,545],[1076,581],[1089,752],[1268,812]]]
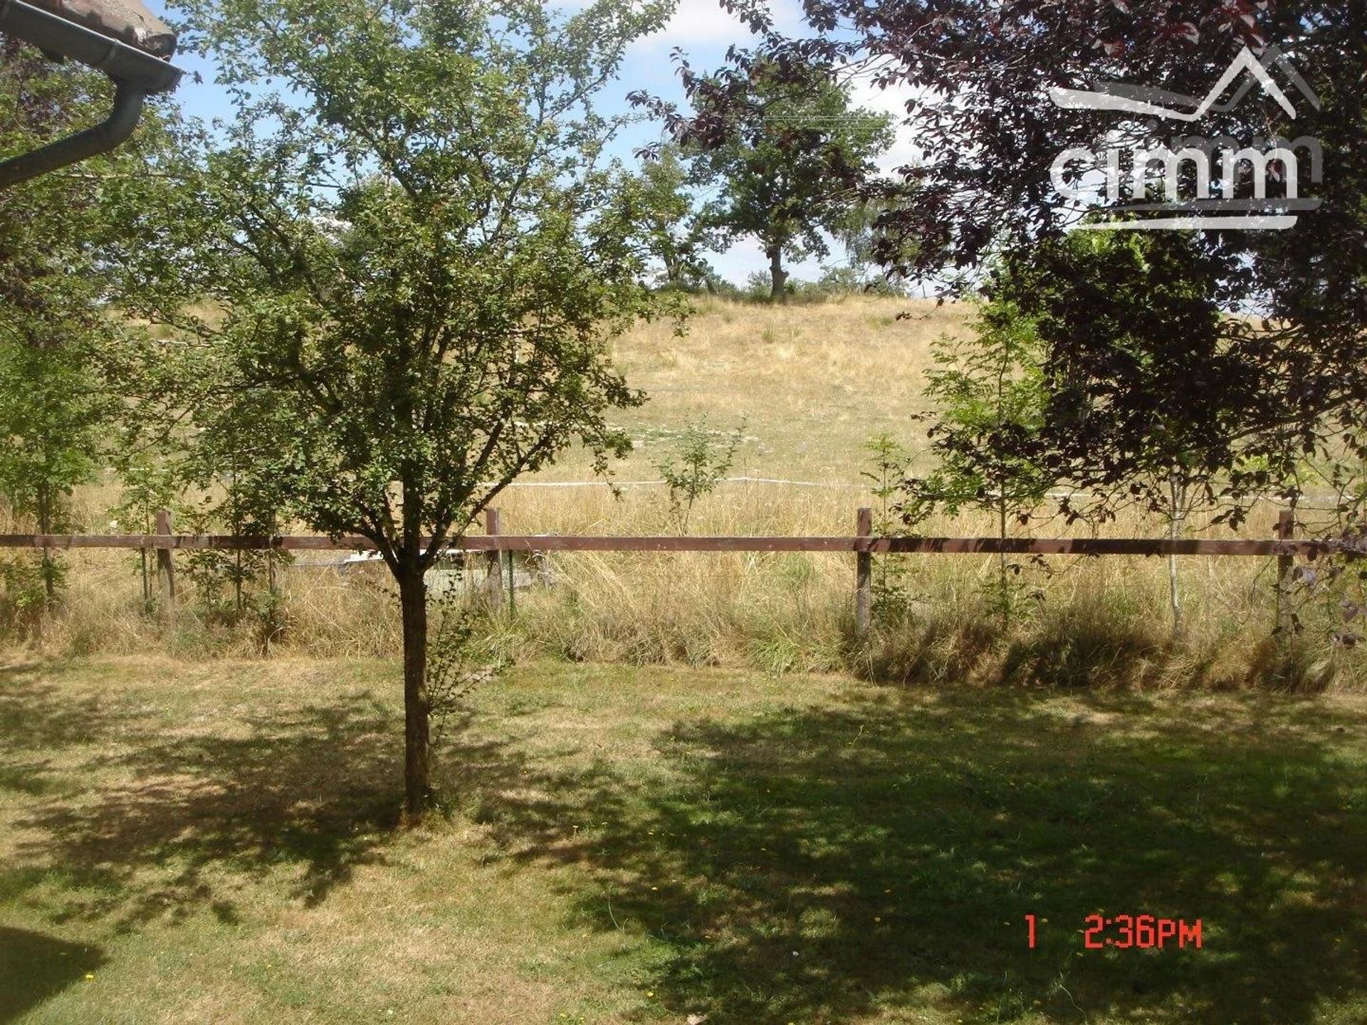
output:
[[[642,325],[615,348],[627,381],[649,396],[619,418],[638,448],[617,469],[651,476],[663,439],[707,415],[723,429],[746,421],[745,474],[857,482],[871,435],[924,439],[909,414],[925,407],[930,343],[962,333],[964,313],[874,297],[793,306],[701,299],[684,336],[670,324]],[[581,466],[570,461],[551,476]]]

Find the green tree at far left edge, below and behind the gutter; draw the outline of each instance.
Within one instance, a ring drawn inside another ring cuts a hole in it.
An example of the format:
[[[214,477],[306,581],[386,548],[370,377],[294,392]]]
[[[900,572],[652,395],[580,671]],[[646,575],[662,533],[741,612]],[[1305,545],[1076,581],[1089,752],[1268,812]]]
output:
[[[0,159],[101,120],[109,92],[104,75],[0,38]],[[108,316],[105,257],[170,145],[165,118],[152,112],[130,146],[0,191],[0,495],[40,533],[71,526],[71,491],[101,469],[127,413],[104,353],[135,328]],[[48,607],[60,578],[57,556],[44,551],[37,579]]]

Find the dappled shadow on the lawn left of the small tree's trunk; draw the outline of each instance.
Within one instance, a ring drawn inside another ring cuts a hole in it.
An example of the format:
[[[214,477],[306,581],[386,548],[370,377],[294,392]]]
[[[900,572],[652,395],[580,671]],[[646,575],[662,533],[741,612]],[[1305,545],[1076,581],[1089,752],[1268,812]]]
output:
[[[157,709],[72,698],[51,674],[0,678],[0,789],[30,798],[0,898],[42,890],[51,920],[120,929],[202,909],[235,921],[242,875],[283,871],[316,905],[383,861],[401,724],[368,693],[275,709],[217,694],[191,708],[211,724],[185,730]]]

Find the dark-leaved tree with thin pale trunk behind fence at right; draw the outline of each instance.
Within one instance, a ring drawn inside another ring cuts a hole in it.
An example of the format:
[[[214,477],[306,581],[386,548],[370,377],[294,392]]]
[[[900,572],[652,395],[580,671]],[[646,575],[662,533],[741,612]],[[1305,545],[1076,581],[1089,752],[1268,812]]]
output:
[[[1256,362],[1228,335],[1225,258],[1178,232],[1074,232],[1005,258],[990,309],[1028,323],[1040,347],[1043,428],[1013,455],[1088,496],[1073,514],[1111,518],[1139,503],[1178,538],[1196,507],[1219,503],[1256,436]],[[1176,346],[1174,339],[1181,344]],[[1274,487],[1295,487],[1300,448],[1258,440]],[[1267,458],[1270,454],[1274,458]],[[1182,633],[1169,558],[1173,636]]]

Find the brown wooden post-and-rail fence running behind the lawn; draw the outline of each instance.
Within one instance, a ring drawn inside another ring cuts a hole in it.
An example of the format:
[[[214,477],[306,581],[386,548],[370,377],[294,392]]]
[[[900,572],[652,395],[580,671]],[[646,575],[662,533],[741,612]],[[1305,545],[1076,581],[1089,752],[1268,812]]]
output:
[[[1267,540],[1181,538],[1158,540],[1137,537],[875,537],[874,514],[860,508],[856,532],[850,537],[679,537],[644,536],[610,537],[580,534],[504,534],[499,510],[485,514],[485,533],[472,534],[447,545],[452,551],[487,552],[491,582],[498,581],[496,601],[502,601],[502,574],[496,571],[503,552],[835,552],[856,556],[854,610],[856,625],[864,633],[869,625],[872,599],[872,556],[875,555],[1213,555],[1277,559],[1278,620],[1282,594],[1292,562],[1319,558],[1337,551],[1363,552],[1359,545],[1336,541],[1295,540],[1295,521],[1284,510],[1277,522],[1277,537]],[[365,537],[316,537],[284,534],[278,537],[241,537],[232,534],[174,534],[168,512],[157,514],[154,534],[0,534],[0,548],[141,548],[157,552],[160,571],[174,596],[172,551],[375,551]]]

